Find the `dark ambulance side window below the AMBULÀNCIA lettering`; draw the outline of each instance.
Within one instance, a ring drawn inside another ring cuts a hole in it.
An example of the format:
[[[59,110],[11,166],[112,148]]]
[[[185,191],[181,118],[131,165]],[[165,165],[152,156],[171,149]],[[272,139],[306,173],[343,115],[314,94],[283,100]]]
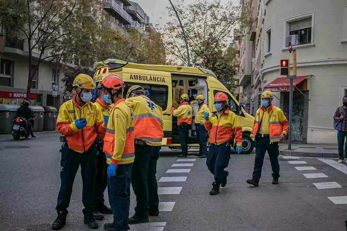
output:
[[[160,106],[163,111],[166,110],[168,107],[168,92],[169,88],[165,85],[154,85],[154,84],[138,84],[138,83],[132,83],[132,82],[125,82],[125,89],[124,89],[124,98],[126,97],[126,94],[128,92],[128,89],[133,85],[139,85],[143,87],[145,90],[149,91],[150,95],[149,98],[153,100],[153,102]]]

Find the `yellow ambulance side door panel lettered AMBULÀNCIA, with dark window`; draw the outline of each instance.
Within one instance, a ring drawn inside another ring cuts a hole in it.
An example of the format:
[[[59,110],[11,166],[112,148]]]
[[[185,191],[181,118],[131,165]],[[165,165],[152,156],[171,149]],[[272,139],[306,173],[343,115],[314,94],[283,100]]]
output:
[[[162,145],[171,144],[172,129],[172,83],[171,73],[133,68],[122,68],[122,78],[125,82],[124,94],[133,85],[139,85],[149,92],[149,98],[163,110],[164,139]],[[149,129],[151,129],[149,127]]]

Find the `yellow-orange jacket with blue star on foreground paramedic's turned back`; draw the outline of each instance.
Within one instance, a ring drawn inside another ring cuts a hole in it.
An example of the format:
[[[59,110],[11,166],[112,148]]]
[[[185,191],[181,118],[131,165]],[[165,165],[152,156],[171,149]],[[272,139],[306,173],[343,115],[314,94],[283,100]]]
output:
[[[134,112],[135,139],[151,146],[160,146],[163,139],[162,109],[146,96],[127,98]]]

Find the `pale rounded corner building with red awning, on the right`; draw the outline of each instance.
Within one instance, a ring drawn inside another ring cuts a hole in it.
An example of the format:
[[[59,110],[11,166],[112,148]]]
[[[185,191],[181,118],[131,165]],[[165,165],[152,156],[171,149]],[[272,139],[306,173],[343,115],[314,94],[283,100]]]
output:
[[[288,115],[289,80],[279,75],[279,64],[281,59],[291,60],[287,42],[295,37],[298,78],[294,80],[292,139],[336,143],[332,116],[347,95],[346,0],[253,0],[241,4],[249,7],[254,19],[239,36],[238,78],[249,113],[259,107],[260,92],[271,90],[276,96],[273,104]]]

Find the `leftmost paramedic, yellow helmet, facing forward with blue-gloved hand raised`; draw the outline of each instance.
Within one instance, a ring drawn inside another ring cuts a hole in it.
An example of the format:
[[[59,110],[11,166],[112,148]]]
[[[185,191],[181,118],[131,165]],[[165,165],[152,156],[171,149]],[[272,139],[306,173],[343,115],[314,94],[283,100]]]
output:
[[[60,151],[61,186],[56,207],[58,217],[53,222],[52,229],[59,230],[66,223],[67,208],[79,165],[83,183],[84,223],[91,229],[97,229],[98,223],[93,218],[97,153],[95,140],[97,136],[105,134],[107,122],[104,121],[101,110],[90,102],[93,79],[86,74],[78,74],[72,86],[77,94],[60,106],[56,125],[66,142]]]

